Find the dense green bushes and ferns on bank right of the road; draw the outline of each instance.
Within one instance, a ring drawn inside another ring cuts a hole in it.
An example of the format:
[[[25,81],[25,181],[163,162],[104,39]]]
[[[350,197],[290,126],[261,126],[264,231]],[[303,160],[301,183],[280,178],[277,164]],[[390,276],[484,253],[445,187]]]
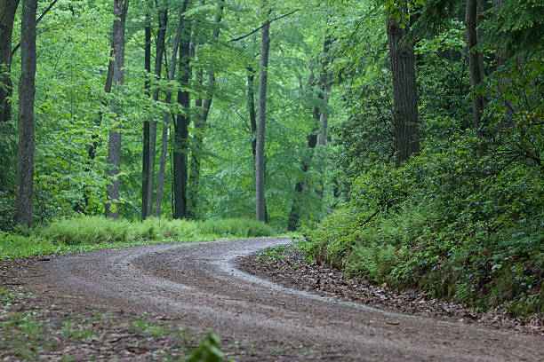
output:
[[[305,232],[309,255],[391,287],[544,312],[543,169],[476,159],[466,141],[356,177],[351,200]]]

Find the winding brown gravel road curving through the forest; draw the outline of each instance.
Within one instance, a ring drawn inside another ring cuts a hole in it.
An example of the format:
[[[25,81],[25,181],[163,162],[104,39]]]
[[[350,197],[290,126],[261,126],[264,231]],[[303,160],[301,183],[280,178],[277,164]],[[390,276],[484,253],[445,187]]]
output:
[[[147,311],[246,342],[236,360],[540,361],[544,339],[379,311],[276,286],[236,258],[290,240],[168,244],[56,256],[31,289],[87,305]],[[262,354],[259,350],[263,351]],[[266,351],[266,352],[265,352]]]

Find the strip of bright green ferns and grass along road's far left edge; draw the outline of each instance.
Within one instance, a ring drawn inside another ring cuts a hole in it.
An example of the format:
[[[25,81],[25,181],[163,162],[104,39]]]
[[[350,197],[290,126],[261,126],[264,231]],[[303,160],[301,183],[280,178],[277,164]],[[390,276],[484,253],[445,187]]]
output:
[[[148,218],[140,223],[116,221],[103,216],[80,216],[58,220],[33,231],[0,232],[0,261],[95,248],[253,238],[274,234],[274,230],[267,224],[246,219],[190,221]]]

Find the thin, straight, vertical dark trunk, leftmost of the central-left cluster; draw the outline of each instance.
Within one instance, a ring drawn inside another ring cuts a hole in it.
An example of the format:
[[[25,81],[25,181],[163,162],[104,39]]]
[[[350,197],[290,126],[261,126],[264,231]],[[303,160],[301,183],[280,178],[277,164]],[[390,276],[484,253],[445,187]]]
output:
[[[144,67],[148,73],[148,77],[151,75],[151,19],[149,19],[149,12],[146,12],[146,27],[145,31],[145,55],[144,55]],[[146,79],[144,88],[146,95],[151,96],[149,91],[149,78]],[[145,220],[148,217],[148,179],[149,179],[149,121],[145,120],[143,125],[143,150],[141,160],[141,220]]]

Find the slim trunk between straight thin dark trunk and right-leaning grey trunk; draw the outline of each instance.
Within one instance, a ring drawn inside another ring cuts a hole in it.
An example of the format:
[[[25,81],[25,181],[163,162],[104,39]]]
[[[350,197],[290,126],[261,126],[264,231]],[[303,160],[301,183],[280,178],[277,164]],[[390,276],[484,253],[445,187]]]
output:
[[[164,57],[164,41],[166,38],[166,26],[168,24],[168,8],[167,4],[164,4],[164,9],[158,12],[158,30],[156,32],[156,56],[155,56],[155,77],[161,78],[163,72],[163,57]],[[153,100],[157,101],[159,98],[158,87],[153,91]],[[168,132],[166,132],[166,138],[168,138]],[[166,146],[164,146],[164,149]],[[155,151],[156,151],[156,120],[153,120],[149,130],[149,167],[148,167],[148,199],[146,203],[146,215],[151,216],[153,213],[153,191],[155,184]],[[164,175],[164,173],[163,173]],[[163,180],[164,182],[164,180]],[[160,213],[160,201],[158,211],[155,216],[158,217]]]

